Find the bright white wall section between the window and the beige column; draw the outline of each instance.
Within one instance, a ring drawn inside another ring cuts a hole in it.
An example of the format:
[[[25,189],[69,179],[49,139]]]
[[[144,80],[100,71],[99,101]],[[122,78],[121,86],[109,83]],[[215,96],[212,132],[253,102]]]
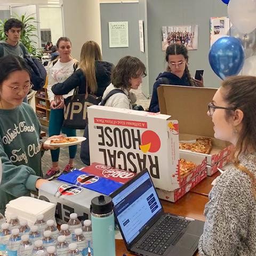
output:
[[[55,45],[63,36],[61,7],[39,7],[40,29],[51,29],[52,43]]]

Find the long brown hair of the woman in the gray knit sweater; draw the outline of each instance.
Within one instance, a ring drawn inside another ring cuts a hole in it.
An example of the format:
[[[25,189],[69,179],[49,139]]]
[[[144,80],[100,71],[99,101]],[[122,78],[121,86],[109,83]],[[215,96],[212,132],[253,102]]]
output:
[[[247,173],[252,181],[253,194],[256,197],[256,179],[252,172],[239,163],[240,155],[256,152],[256,77],[234,76],[222,82],[225,90],[223,99],[233,109],[243,111],[242,130],[239,131],[232,160],[235,166]],[[226,110],[226,119],[234,115],[234,110]],[[256,160],[256,159],[255,159]]]

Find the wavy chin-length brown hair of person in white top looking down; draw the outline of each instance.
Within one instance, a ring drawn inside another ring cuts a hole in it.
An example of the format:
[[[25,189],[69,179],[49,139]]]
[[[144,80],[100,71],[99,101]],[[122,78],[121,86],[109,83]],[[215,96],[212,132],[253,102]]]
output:
[[[120,59],[111,74],[111,83],[116,88],[128,89],[131,84],[129,80],[137,76],[137,72],[140,72],[142,76],[146,76],[146,67],[136,57],[125,56]]]

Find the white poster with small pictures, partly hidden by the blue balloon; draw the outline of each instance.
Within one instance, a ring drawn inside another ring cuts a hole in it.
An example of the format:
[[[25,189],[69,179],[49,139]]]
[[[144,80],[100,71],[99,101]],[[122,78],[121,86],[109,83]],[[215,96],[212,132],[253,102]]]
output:
[[[211,17],[210,18],[210,46],[219,38],[228,35],[231,27],[228,17]]]

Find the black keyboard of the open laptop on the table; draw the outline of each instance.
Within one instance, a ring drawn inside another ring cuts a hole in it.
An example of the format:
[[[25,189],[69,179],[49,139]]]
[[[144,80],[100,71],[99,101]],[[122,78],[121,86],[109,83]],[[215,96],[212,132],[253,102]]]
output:
[[[164,215],[161,221],[143,238],[137,248],[158,255],[163,255],[179,233],[186,228],[189,220],[175,218],[171,215]],[[174,235],[174,233],[176,233]]]

